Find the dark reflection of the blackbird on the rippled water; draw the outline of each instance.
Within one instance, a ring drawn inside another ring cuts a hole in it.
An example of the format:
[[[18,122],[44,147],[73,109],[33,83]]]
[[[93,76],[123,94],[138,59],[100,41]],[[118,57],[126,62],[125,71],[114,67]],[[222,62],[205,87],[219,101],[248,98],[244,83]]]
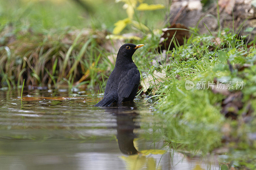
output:
[[[118,107],[110,107],[106,111],[116,115],[117,123],[117,141],[119,149],[122,153],[126,155],[133,155],[139,153],[134,147],[133,140],[136,135],[133,133],[133,129],[140,128],[136,126],[133,119],[135,119],[139,114],[136,110],[134,104],[129,104],[125,106],[125,103],[118,104]]]

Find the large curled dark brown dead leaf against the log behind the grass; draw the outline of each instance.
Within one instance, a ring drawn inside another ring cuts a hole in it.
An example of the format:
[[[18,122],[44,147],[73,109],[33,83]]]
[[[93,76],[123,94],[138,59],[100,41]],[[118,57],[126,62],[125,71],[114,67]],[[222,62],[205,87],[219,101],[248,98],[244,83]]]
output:
[[[168,30],[169,28],[178,28],[177,30],[174,29],[174,30]],[[188,29],[186,26],[178,23],[178,24],[172,24],[170,27],[168,28],[164,28],[162,29],[163,33],[162,33],[162,36],[160,38],[160,42],[159,42],[159,45],[160,45],[160,49],[158,49],[158,52],[160,53],[160,50],[167,50],[171,41],[172,41],[172,37],[173,35],[175,34],[175,38],[173,39],[173,41],[176,42],[176,44],[180,44],[180,45],[183,45],[184,44],[184,41],[183,41],[183,38],[186,37],[188,38],[189,37],[189,32],[186,31],[186,30],[179,30],[179,29]],[[165,40],[167,39],[167,40]],[[172,50],[172,48],[174,48],[174,43],[171,43],[170,45],[170,50]]]

